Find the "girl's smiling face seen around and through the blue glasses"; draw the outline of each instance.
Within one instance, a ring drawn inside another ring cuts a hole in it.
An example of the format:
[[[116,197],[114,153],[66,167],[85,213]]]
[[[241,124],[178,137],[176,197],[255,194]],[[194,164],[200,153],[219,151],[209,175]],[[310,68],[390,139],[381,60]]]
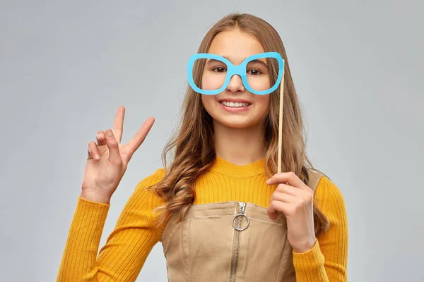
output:
[[[213,38],[208,53],[217,54],[227,58],[234,66],[240,65],[248,56],[264,53],[264,47],[261,42],[248,33],[235,28],[233,30],[219,32]],[[204,75],[201,80],[202,88],[217,89],[216,79],[219,75],[225,78],[225,66],[213,66],[213,61],[206,63]],[[252,62],[247,68],[247,77],[249,85],[254,86],[255,90],[266,90],[270,87],[267,69],[264,68],[265,59],[259,59]],[[252,68],[250,68],[252,66]],[[265,74],[259,75],[258,70],[265,71]],[[212,76],[214,75],[214,76]],[[222,85],[222,84],[221,84]],[[218,85],[219,86],[219,85]],[[222,102],[237,101],[247,102],[249,106],[240,106],[240,104]],[[230,128],[247,128],[257,125],[266,117],[269,109],[269,94],[253,94],[245,89],[242,78],[239,75],[233,75],[228,87],[219,94],[206,95],[201,94],[201,101],[208,114],[215,122]]]

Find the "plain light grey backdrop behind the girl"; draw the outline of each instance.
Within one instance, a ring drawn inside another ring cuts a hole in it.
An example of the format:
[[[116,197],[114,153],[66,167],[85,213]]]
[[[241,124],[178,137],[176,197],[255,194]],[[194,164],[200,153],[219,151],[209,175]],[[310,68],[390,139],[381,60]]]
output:
[[[343,193],[349,281],[424,281],[421,1],[1,1],[0,281],[54,281],[86,147],[126,107],[155,125],[112,197],[162,167],[187,59],[208,27],[253,13],[283,38],[308,152]],[[138,281],[166,281],[155,245]]]

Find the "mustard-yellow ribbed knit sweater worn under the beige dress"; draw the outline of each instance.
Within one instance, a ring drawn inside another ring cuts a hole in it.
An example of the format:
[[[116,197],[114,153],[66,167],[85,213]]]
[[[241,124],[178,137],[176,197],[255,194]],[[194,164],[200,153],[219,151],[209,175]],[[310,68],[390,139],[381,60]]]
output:
[[[136,281],[163,228],[155,228],[153,209],[165,202],[144,188],[158,183],[165,170],[157,169],[141,180],[122,210],[116,226],[99,250],[110,204],[78,196],[57,281]],[[194,204],[242,201],[268,207],[276,185],[267,185],[264,159],[237,166],[220,157],[196,179]],[[293,251],[298,282],[347,281],[348,222],[337,186],[322,177],[315,192],[319,209],[330,221],[329,231],[304,253]]]

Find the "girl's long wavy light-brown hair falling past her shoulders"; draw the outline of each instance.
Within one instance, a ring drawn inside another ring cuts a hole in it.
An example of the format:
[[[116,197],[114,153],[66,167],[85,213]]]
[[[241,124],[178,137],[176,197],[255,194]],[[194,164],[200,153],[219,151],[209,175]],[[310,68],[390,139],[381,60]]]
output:
[[[302,122],[298,96],[295,91],[290,73],[288,59],[281,37],[276,30],[265,20],[247,13],[231,13],[219,20],[206,33],[198,53],[207,53],[213,38],[222,31],[239,28],[242,32],[254,35],[261,42],[264,50],[277,51],[283,56],[284,66],[284,104],[283,104],[283,148],[281,159],[282,171],[293,171],[307,185],[309,183],[308,168],[313,165],[305,152],[306,137]],[[199,61],[199,60],[198,60]],[[204,60],[202,60],[204,61]],[[204,66],[200,63],[194,66],[194,82],[199,85]],[[271,80],[275,83],[278,66],[276,62],[269,62]],[[271,83],[273,85],[273,83]],[[271,177],[278,168],[278,114],[280,102],[280,87],[270,95],[269,112],[261,125],[265,127],[264,147],[266,154],[264,164],[266,176]],[[172,151],[173,149],[173,151]],[[167,167],[167,154],[174,153],[172,164]],[[157,226],[167,220],[177,222],[184,219],[189,207],[194,202],[196,191],[194,181],[213,165],[216,151],[213,142],[213,119],[201,102],[201,95],[187,85],[182,116],[179,126],[168,140],[162,152],[162,161],[165,166],[165,176],[151,190],[166,201],[163,206],[157,207],[154,212],[160,215]],[[329,221],[319,211],[314,203],[314,229],[318,234],[328,231]]]

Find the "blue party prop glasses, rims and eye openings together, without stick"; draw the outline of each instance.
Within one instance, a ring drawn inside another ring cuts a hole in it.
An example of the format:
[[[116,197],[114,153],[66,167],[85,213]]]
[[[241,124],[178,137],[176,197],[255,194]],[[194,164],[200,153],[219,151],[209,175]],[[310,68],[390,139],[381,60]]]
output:
[[[277,79],[271,85],[269,64],[276,66]],[[232,75],[240,75],[245,89],[254,94],[269,94],[277,89],[283,76],[284,62],[278,52],[249,56],[234,66],[228,59],[216,54],[194,54],[187,64],[189,85],[201,94],[214,95],[228,87]],[[201,81],[194,81],[194,73],[201,72]]]

